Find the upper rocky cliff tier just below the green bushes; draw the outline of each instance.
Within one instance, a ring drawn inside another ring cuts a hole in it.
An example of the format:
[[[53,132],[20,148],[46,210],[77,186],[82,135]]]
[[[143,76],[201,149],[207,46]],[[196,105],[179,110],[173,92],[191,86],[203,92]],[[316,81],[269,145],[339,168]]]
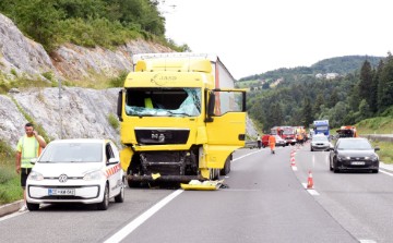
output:
[[[10,19],[0,14],[0,80],[12,80],[15,74],[45,78],[43,74],[47,72],[56,78],[70,81],[97,75],[112,77],[131,70],[135,53],[171,51],[168,47],[138,39],[115,50],[66,44],[49,56],[40,44],[23,36]]]

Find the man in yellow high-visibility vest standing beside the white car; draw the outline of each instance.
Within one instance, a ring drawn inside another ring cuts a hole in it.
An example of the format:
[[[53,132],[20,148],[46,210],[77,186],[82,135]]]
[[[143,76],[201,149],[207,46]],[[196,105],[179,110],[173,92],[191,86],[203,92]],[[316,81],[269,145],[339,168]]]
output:
[[[26,181],[29,172],[32,171],[33,165],[31,160],[37,158],[41,149],[46,147],[46,142],[44,137],[39,136],[36,131],[34,131],[34,125],[32,123],[25,124],[25,135],[22,136],[16,146],[16,173],[21,174],[21,186],[23,189],[23,198],[25,205],[20,209],[20,211],[26,210]]]

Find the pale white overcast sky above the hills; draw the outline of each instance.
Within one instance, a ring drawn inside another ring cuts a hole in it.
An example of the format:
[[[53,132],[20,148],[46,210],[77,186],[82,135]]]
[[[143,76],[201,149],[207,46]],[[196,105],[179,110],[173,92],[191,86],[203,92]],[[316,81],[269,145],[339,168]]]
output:
[[[162,0],[166,37],[219,57],[237,80],[393,51],[391,0]]]

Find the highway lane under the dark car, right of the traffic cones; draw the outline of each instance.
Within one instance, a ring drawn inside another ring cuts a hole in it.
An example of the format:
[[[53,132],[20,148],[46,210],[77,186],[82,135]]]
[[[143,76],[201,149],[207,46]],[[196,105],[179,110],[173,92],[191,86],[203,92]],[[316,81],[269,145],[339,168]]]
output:
[[[309,150],[306,145],[296,154],[295,172],[306,183],[312,171],[317,202],[358,240],[392,242],[393,174],[391,172],[344,172],[329,170],[329,151]],[[380,170],[381,171],[381,170]]]

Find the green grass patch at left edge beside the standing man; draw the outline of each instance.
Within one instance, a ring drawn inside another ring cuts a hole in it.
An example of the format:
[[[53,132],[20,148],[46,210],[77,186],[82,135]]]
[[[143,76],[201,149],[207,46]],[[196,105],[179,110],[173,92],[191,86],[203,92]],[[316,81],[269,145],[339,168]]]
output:
[[[19,175],[15,172],[15,151],[0,141],[0,205],[23,198]]]

